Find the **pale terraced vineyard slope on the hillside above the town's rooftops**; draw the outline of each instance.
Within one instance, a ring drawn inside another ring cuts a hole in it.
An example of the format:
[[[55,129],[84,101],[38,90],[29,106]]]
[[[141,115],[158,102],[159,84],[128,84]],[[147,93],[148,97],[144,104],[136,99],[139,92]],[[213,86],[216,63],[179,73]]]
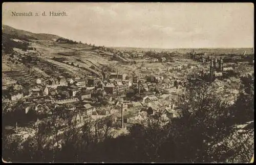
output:
[[[47,65],[52,65],[51,67],[57,68],[62,73],[66,73],[66,70],[69,70],[72,74],[78,73],[82,75],[86,73],[102,77],[102,65],[110,62],[106,58],[103,59],[99,53],[108,56],[109,60],[112,57],[112,55],[106,54],[103,51],[91,50],[92,46],[85,44],[72,45],[37,41],[36,44],[33,44],[33,47],[40,54],[38,54],[38,58],[47,61]],[[94,66],[94,68],[91,68],[91,66]],[[47,68],[45,69],[47,70]]]

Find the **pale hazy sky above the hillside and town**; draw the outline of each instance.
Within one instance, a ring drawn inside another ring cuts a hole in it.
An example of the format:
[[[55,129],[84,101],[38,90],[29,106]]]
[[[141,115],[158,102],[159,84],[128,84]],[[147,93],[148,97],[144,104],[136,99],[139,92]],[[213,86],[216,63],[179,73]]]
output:
[[[3,24],[105,46],[253,47],[252,3],[4,3]],[[12,16],[65,11],[68,16]]]

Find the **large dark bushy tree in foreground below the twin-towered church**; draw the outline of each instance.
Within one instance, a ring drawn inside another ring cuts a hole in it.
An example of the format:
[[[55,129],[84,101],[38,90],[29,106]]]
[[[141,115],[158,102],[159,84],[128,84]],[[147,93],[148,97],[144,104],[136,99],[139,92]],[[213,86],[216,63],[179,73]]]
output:
[[[190,145],[189,150],[184,149],[188,155],[185,159],[211,161],[211,156],[205,151],[210,148],[210,144],[217,143],[218,139],[229,134],[229,108],[221,102],[208,83],[187,85],[183,95],[178,98],[178,107],[181,117],[175,125],[183,125],[178,129],[178,134],[187,138],[185,143],[178,140],[178,144],[180,148]]]

